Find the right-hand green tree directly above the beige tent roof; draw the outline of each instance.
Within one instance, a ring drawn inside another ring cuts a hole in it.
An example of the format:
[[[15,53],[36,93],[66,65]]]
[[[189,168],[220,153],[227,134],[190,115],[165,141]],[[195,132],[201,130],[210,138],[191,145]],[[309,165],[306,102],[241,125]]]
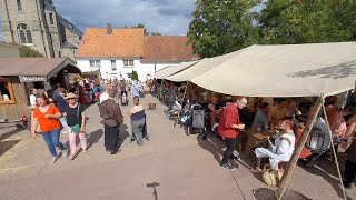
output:
[[[269,0],[258,17],[263,43],[338,42],[356,39],[356,1]]]

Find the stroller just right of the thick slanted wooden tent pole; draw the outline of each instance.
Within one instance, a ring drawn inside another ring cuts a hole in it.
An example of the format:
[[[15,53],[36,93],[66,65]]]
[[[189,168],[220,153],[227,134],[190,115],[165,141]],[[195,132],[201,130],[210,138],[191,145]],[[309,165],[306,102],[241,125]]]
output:
[[[322,117],[317,117],[306,142],[312,156],[306,159],[306,167],[314,167],[316,160],[332,151],[332,141],[327,124]]]

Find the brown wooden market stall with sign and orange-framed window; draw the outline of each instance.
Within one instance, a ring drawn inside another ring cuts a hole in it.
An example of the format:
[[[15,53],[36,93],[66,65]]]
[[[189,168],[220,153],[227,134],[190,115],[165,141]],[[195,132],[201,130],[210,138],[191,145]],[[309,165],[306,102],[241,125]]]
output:
[[[1,58],[0,119],[29,117],[30,88],[44,90],[51,80],[69,88],[69,73],[80,73],[80,70],[65,58]]]

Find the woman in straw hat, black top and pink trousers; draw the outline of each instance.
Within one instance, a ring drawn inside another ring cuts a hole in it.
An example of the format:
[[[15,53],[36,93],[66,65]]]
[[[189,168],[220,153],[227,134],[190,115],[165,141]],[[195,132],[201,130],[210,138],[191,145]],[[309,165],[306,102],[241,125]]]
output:
[[[69,158],[73,160],[77,157],[77,134],[80,138],[82,152],[88,152],[86,138],[86,109],[78,102],[78,96],[75,93],[68,93],[66,100],[68,100],[68,106],[63,114],[67,117],[67,123],[69,126]]]

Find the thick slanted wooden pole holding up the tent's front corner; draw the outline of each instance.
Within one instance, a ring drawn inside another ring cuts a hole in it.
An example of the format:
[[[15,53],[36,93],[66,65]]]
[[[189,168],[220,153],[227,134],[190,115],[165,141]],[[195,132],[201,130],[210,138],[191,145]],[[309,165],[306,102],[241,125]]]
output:
[[[283,188],[283,191],[280,193],[277,193],[277,199],[280,200],[281,197],[283,197],[283,193],[285,192],[285,189],[289,182],[289,179],[291,177],[291,173],[293,173],[293,170],[294,168],[296,167],[297,164],[297,161],[299,159],[299,156],[301,153],[301,150],[308,139],[308,136],[312,131],[312,128],[313,128],[313,124],[315,122],[315,119],[316,117],[318,116],[320,109],[322,109],[322,106],[323,106],[323,102],[324,102],[324,97],[318,97],[317,101],[315,102],[314,107],[313,107],[313,112],[312,114],[309,116],[308,118],[308,121],[303,130],[303,133],[301,133],[301,138],[288,162],[288,166],[287,166],[287,169],[284,173],[284,176],[281,177],[281,180],[280,180],[280,184],[279,184],[279,188]]]

